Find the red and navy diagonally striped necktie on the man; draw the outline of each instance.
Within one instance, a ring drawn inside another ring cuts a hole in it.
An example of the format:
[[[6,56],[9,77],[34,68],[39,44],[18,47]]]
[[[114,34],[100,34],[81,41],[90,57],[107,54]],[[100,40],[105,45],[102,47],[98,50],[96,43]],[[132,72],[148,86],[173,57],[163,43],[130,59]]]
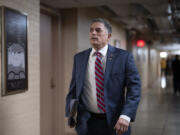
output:
[[[97,96],[97,106],[101,113],[105,113],[104,104],[104,73],[102,66],[102,55],[100,52],[96,52],[95,61],[95,80],[96,80],[96,96]]]

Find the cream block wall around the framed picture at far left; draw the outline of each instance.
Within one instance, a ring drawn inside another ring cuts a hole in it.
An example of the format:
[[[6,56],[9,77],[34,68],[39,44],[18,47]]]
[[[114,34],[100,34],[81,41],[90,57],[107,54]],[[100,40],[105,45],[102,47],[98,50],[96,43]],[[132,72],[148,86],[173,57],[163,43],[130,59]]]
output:
[[[28,14],[28,91],[0,96],[0,135],[39,135],[39,0],[0,0]]]

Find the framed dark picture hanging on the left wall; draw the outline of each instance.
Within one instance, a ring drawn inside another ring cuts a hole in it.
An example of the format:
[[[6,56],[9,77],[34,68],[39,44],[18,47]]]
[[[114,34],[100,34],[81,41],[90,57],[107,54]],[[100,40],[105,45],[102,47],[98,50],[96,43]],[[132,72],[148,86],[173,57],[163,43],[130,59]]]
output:
[[[1,94],[28,88],[27,14],[1,7]]]

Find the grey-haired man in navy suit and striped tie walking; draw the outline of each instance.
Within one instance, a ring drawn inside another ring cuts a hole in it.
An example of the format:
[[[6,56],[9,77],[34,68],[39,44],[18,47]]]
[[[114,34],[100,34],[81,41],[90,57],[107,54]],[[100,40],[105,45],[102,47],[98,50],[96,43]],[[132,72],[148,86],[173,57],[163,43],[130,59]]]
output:
[[[77,100],[78,135],[130,135],[130,122],[135,120],[140,77],[132,55],[108,44],[111,32],[108,21],[94,19],[89,32],[92,48],[74,56],[66,116]]]

